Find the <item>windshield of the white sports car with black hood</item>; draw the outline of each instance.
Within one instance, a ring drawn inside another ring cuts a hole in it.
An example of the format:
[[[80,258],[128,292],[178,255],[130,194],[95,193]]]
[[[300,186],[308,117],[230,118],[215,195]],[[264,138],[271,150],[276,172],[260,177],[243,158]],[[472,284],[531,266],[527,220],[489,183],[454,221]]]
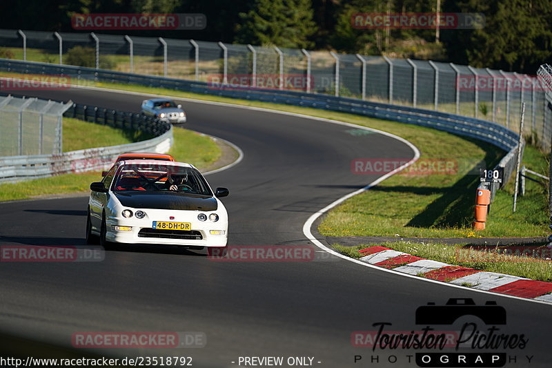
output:
[[[213,195],[195,168],[164,164],[126,164],[119,170],[112,190]]]

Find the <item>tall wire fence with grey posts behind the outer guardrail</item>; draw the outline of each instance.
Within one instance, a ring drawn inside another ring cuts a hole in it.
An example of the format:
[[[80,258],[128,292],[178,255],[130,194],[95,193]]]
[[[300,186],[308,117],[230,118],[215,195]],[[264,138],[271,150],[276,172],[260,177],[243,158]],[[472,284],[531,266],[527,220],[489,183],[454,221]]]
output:
[[[77,46],[85,52],[79,54]],[[95,33],[0,30],[0,48],[3,55],[27,61],[426,108],[486,119],[516,132],[525,102],[524,135],[542,148],[551,145],[552,118],[536,75],[385,56]]]

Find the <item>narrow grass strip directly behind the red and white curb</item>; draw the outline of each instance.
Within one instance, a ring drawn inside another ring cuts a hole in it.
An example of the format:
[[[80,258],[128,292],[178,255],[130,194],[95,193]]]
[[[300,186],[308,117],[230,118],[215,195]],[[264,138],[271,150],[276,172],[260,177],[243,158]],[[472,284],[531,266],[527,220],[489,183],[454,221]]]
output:
[[[515,255],[493,255],[490,252],[468,249],[465,245],[449,245],[438,242],[418,244],[411,242],[388,242],[377,244],[396,251],[401,251],[421,258],[468,267],[480,271],[506,273],[522,278],[552,282],[552,262],[536,260]],[[335,251],[351,258],[360,258],[359,250],[373,246],[361,244],[359,246],[342,246],[333,244]],[[535,248],[537,248],[535,246]],[[398,265],[397,265],[398,267]]]

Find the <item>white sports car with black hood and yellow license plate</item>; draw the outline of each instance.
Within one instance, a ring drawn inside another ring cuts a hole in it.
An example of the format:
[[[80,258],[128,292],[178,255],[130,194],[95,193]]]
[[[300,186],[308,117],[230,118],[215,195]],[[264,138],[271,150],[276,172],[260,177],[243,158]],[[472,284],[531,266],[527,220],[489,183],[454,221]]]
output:
[[[193,165],[134,159],[90,184],[86,242],[172,244],[226,253],[228,214]]]

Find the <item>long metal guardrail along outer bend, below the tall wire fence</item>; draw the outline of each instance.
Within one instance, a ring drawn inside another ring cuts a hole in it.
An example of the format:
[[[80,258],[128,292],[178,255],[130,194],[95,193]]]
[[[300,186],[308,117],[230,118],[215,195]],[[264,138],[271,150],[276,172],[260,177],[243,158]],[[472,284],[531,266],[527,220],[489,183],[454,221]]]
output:
[[[500,124],[483,119],[422,108],[382,104],[348,97],[335,97],[286,90],[266,90],[250,87],[231,88],[230,86],[224,85],[213,86],[212,84],[200,81],[186,81],[182,79],[114,72],[111,70],[97,70],[95,68],[84,68],[79,66],[59,66],[32,61],[15,61],[11,59],[0,59],[0,70],[24,74],[66,75],[73,80],[77,79],[77,81],[90,80],[121,84],[137,84],[205,95],[266,101],[276,104],[353,113],[356,115],[388,119],[406,124],[427,126],[457,135],[472,137],[493,144],[508,152],[515,150],[519,139],[519,135],[512,130],[504,128],[504,126]],[[511,157],[511,155],[506,155],[501,162],[501,165],[504,165],[505,168],[507,167],[505,174],[511,173],[509,169],[510,166],[513,165],[511,164]],[[507,180],[508,177],[505,176],[505,179]]]

